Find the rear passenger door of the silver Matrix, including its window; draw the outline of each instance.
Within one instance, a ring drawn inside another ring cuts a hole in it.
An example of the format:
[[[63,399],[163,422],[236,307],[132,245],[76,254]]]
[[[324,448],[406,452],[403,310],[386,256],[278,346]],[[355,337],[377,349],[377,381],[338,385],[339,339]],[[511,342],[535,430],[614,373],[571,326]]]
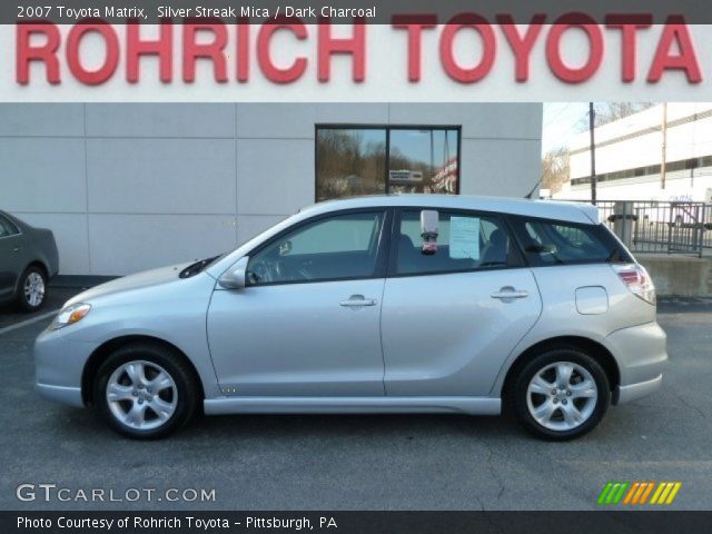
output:
[[[438,220],[434,254],[422,246],[421,210],[394,225],[382,312],[389,396],[487,395],[542,310],[500,216],[439,210]]]

